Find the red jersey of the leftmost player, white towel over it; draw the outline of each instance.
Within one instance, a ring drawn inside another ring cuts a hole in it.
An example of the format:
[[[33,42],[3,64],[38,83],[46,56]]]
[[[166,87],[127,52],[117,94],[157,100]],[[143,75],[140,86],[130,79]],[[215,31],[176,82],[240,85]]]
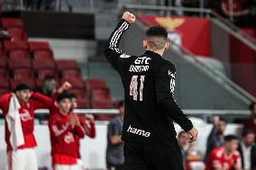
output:
[[[3,111],[4,116],[8,113],[9,104],[12,94],[5,94],[0,98],[0,109]],[[34,148],[36,147],[36,140],[33,135],[34,130],[34,111],[36,109],[49,109],[52,105],[52,100],[38,93],[33,93],[32,98],[28,103],[22,103],[21,108],[19,110],[23,136],[24,136],[24,145],[18,148]],[[8,130],[8,126],[5,120],[5,142],[7,145],[7,151],[12,150],[12,146],[10,143],[10,131]]]

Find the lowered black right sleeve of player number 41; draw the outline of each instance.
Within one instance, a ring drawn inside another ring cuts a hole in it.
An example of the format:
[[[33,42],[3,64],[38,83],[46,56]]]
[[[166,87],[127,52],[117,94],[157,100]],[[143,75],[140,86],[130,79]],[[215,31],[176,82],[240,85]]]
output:
[[[158,106],[185,131],[192,130],[193,124],[188,120],[174,100],[176,69],[171,63],[161,65],[156,71],[156,95]]]

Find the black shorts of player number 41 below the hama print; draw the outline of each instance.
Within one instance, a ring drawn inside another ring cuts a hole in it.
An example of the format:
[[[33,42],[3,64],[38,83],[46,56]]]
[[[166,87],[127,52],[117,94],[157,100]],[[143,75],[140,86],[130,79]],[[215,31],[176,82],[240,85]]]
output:
[[[123,170],[184,170],[178,144],[154,145],[125,141]]]

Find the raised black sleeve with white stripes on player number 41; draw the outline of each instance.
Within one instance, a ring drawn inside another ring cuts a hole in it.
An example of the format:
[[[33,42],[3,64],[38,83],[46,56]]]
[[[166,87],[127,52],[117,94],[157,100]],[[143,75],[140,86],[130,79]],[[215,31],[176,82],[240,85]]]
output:
[[[118,72],[121,71],[123,67],[123,63],[130,58],[131,56],[123,53],[121,49],[118,49],[118,45],[120,43],[123,32],[128,30],[130,23],[125,20],[121,20],[114,31],[112,32],[110,38],[107,42],[107,48],[105,49],[105,58],[110,62],[110,64],[114,67]]]

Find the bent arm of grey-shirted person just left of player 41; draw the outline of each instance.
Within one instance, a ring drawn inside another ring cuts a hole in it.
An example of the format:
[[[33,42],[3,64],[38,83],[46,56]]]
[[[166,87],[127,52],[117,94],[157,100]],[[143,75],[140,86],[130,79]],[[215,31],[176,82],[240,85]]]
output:
[[[110,122],[107,126],[107,136],[112,145],[118,145],[123,143],[121,135],[119,135],[118,133],[118,128],[113,122]]]

